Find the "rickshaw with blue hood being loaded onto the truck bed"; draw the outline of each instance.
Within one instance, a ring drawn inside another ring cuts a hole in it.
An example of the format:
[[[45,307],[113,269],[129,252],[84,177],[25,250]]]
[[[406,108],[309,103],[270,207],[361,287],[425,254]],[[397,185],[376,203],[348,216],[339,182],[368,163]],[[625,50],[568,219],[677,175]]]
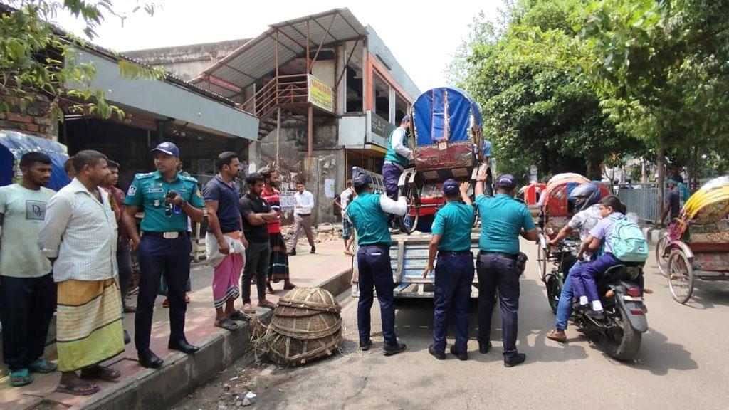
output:
[[[462,90],[427,90],[416,99],[410,117],[414,166],[405,169],[398,182],[399,195],[408,200],[400,227],[408,234],[416,230],[419,218],[432,217],[445,204],[440,189],[445,179],[474,179],[480,163],[488,164],[491,156],[491,144],[483,140],[480,109]],[[490,177],[490,169],[487,173]]]

